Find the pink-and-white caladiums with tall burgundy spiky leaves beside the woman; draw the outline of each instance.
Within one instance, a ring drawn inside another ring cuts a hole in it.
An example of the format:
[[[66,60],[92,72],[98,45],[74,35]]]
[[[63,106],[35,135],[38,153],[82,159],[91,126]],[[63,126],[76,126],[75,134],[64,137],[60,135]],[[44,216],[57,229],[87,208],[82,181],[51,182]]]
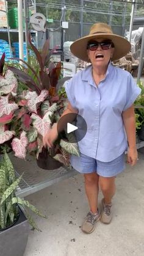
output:
[[[59,120],[68,104],[65,90],[58,89],[70,78],[59,79],[60,62],[57,65],[50,62],[56,48],[49,51],[49,41],[46,40],[40,53],[32,45],[30,36],[29,44],[39,64],[37,73],[34,67],[21,60],[23,70],[8,66],[4,74],[5,56],[0,60],[0,145],[11,139],[12,149],[18,158],[26,158],[27,152],[38,158],[43,148],[43,136]],[[23,93],[17,90],[16,78],[27,86]],[[53,150],[56,159],[67,166],[70,165],[70,154],[79,155],[77,144],[70,144],[69,141],[67,136],[62,141],[58,139]]]

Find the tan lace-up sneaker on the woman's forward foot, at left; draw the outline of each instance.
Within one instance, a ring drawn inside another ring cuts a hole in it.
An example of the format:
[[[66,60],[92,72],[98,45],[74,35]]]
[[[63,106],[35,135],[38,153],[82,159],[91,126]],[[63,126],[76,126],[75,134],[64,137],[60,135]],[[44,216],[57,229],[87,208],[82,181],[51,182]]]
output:
[[[92,213],[92,211],[89,211],[86,218],[84,219],[84,222],[82,224],[82,231],[90,234],[95,230],[96,222],[98,222],[100,219],[99,211],[98,213]]]

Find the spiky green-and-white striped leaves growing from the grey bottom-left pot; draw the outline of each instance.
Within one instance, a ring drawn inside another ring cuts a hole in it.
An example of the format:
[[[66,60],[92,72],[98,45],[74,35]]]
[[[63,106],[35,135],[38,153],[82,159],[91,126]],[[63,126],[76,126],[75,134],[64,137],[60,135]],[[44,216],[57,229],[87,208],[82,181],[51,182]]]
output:
[[[38,229],[37,225],[29,216],[28,208],[32,210],[38,216],[46,218],[34,205],[31,205],[28,201],[20,199],[16,196],[15,191],[20,183],[22,175],[19,178],[15,177],[15,170],[13,168],[13,164],[10,161],[9,156],[6,151],[4,151],[4,155],[2,161],[0,162],[0,230],[5,229],[13,224],[16,221],[19,215],[18,204],[22,205],[24,208],[24,212],[29,220],[29,223],[32,225],[34,229]]]

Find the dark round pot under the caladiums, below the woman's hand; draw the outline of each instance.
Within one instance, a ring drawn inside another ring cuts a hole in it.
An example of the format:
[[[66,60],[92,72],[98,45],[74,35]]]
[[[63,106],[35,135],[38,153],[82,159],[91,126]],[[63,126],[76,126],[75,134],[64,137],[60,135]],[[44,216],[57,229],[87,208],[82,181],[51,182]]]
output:
[[[58,169],[60,166],[63,166],[62,163],[49,156],[48,150],[46,148],[43,148],[42,152],[39,153],[37,165],[41,169],[45,170],[54,170]]]

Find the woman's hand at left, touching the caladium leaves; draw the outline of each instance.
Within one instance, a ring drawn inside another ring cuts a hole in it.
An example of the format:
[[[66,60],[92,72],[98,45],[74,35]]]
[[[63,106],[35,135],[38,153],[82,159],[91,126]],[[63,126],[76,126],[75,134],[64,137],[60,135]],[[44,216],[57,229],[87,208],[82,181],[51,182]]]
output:
[[[58,137],[58,133],[57,133],[57,124],[56,124],[43,137],[44,147],[47,146],[47,147],[52,148],[54,145],[53,142],[56,141],[57,137]]]

